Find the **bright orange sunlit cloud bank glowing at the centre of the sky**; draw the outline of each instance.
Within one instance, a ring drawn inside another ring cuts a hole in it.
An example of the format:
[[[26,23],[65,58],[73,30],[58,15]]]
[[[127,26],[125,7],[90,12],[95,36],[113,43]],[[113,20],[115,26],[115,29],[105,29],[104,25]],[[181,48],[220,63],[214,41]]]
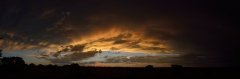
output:
[[[84,51],[101,49],[103,51],[118,52],[143,52],[143,53],[169,53],[173,49],[167,44],[167,40],[149,38],[141,29],[128,30],[120,27],[109,29],[96,29],[79,38],[74,38],[68,45],[85,44]]]

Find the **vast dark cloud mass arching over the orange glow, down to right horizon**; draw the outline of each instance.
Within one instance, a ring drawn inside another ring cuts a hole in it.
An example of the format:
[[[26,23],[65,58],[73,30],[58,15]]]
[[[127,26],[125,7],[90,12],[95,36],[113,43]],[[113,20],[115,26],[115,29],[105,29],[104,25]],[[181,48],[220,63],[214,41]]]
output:
[[[239,5],[234,2],[21,0],[0,1],[0,7],[0,33],[3,38],[19,44],[65,44],[115,26],[143,29],[145,38],[169,41],[183,54],[212,57],[220,64],[235,65],[239,56]],[[127,42],[114,40],[114,44]],[[141,46],[136,42],[129,47]]]

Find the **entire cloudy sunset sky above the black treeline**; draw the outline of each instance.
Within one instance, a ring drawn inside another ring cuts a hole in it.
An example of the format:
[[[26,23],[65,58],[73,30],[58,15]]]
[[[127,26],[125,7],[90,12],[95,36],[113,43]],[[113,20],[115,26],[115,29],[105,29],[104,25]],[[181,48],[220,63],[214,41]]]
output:
[[[2,0],[0,49],[28,64],[238,66],[238,7],[217,0]]]

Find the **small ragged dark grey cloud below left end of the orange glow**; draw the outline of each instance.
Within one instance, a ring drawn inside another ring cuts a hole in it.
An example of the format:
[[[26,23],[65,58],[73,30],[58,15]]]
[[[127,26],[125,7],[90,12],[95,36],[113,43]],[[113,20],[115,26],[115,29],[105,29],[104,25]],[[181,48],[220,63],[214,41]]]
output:
[[[40,59],[46,59],[54,64],[70,64],[73,61],[80,61],[86,58],[93,57],[95,54],[102,53],[101,50],[91,50],[83,52],[85,45],[70,45],[65,46],[63,49],[58,50],[57,52],[50,54],[37,56]],[[54,57],[54,58],[50,58]]]

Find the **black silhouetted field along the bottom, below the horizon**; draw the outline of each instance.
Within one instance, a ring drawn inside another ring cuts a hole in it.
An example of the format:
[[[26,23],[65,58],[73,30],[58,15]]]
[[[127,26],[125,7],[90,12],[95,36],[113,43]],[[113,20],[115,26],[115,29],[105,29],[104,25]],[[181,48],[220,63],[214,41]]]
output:
[[[240,79],[239,68],[1,66],[0,79]]]

